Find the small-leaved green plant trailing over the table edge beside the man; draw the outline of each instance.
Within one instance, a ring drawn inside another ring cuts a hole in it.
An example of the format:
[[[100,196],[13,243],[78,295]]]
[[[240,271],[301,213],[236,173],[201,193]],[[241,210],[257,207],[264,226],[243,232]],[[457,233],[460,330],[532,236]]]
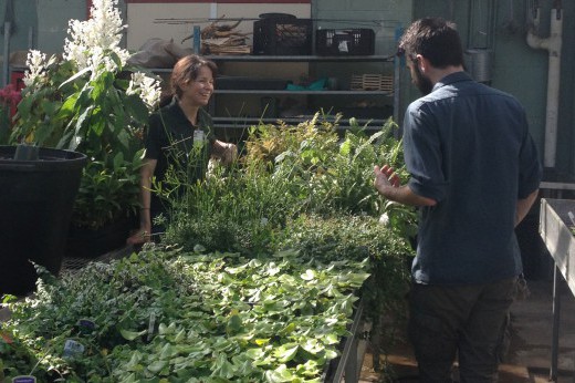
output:
[[[384,312],[400,311],[412,248],[389,224],[365,215],[302,215],[276,234],[273,249],[297,249],[300,257],[321,262],[369,259],[372,278],[362,289],[366,315],[375,321]]]

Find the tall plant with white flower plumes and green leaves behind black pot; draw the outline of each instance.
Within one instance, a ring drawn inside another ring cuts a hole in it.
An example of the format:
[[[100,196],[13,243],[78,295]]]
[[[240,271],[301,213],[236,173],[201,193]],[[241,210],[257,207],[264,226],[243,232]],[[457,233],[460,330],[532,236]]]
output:
[[[11,141],[86,154],[72,224],[97,228],[138,207],[142,137],[160,85],[127,64],[117,0],[94,0],[91,18],[69,25],[62,58],[29,52]]]

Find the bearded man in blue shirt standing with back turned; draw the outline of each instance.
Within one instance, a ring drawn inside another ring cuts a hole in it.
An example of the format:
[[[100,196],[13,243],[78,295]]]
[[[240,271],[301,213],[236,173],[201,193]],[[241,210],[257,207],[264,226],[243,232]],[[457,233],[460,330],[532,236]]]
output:
[[[404,123],[410,179],[374,167],[386,198],[420,207],[409,337],[421,382],[494,382],[521,255],[514,227],[535,201],[542,168],[525,112],[463,70],[454,25],[414,22],[401,37],[424,96]]]

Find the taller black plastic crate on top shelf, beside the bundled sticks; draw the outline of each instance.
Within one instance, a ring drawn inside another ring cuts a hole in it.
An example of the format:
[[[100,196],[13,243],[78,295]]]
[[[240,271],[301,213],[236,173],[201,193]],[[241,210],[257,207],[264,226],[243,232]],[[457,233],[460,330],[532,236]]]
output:
[[[312,20],[266,18],[253,22],[253,54],[307,55],[312,53]]]

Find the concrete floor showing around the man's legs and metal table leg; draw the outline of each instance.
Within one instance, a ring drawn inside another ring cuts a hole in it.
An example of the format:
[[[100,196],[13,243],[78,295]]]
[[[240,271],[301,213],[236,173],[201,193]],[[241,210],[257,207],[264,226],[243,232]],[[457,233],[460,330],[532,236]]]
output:
[[[550,382],[553,281],[527,281],[531,294],[511,309],[511,342],[508,360],[500,366],[500,383]],[[561,280],[561,324],[556,383],[575,382],[575,297]],[[416,383],[417,363],[410,345],[401,340],[387,356],[394,382]],[[383,382],[372,369],[372,355],[364,359],[360,382]]]

